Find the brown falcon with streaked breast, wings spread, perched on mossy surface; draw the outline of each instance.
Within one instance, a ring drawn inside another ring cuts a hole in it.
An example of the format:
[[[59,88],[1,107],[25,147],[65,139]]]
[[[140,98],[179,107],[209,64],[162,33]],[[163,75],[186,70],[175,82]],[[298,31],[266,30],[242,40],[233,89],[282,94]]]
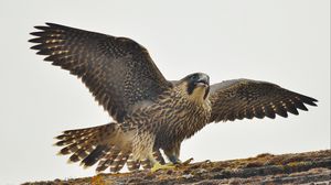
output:
[[[67,130],[56,139],[60,154],[96,171],[118,172],[140,165],[152,171],[180,164],[183,140],[211,122],[287,117],[317,106],[314,98],[278,85],[234,79],[210,85],[193,73],[167,80],[148,51],[127,37],[116,37],[54,23],[35,26],[31,48],[44,61],[77,76],[114,122]],[[162,150],[171,162],[164,164]]]

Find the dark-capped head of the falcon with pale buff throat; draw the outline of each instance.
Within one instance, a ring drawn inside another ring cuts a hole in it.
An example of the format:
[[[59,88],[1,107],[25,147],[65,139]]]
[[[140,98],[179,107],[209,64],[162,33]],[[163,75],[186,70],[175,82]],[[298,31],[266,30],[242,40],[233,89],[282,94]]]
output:
[[[210,77],[203,73],[194,73],[181,79],[190,99],[205,100],[210,92]]]

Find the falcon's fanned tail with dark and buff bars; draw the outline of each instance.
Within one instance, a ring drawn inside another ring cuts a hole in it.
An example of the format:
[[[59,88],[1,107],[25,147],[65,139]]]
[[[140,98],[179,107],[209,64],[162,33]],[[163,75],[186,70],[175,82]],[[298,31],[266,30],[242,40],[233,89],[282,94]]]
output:
[[[92,166],[96,163],[96,172],[103,172],[109,167],[110,172],[119,172],[127,163],[129,171],[137,171],[140,166],[150,168],[150,162],[135,161],[131,149],[120,149],[118,143],[124,137],[119,124],[108,123],[94,128],[67,130],[56,137],[60,140],[55,143],[63,146],[58,154],[72,154],[68,162],[79,162],[84,167]],[[120,145],[120,144],[119,144]],[[164,164],[164,160],[159,150],[153,153],[157,161]]]

